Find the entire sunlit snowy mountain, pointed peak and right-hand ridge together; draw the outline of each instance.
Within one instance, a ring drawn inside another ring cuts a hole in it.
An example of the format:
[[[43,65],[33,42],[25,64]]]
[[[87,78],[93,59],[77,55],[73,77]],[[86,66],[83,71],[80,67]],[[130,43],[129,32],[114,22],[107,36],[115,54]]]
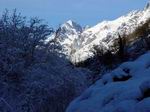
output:
[[[94,45],[101,45],[108,49],[118,38],[118,33],[128,35],[148,19],[150,19],[149,4],[143,10],[132,11],[116,20],[103,21],[90,28],[82,28],[69,20],[60,26],[59,42],[63,47],[62,52],[72,62],[84,61],[93,56],[91,49]]]

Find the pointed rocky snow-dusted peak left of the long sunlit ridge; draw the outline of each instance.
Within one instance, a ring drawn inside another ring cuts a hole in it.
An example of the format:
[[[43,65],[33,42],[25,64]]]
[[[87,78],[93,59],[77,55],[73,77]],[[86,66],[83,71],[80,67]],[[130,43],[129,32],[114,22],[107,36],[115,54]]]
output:
[[[71,57],[71,54],[76,52],[79,47],[79,37],[83,28],[72,20],[68,20],[64,24],[60,25],[58,42],[62,46],[61,52],[67,55],[67,58]],[[48,37],[46,42],[55,37],[55,34]]]

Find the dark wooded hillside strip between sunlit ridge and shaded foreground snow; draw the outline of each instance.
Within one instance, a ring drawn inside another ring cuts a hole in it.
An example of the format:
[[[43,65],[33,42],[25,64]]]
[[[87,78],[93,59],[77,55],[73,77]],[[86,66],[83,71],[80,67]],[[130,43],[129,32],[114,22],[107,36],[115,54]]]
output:
[[[124,61],[134,60],[139,55],[150,50],[150,19],[139,26],[133,33],[129,35],[120,35],[118,33],[117,36],[113,46],[110,46],[109,49],[104,49],[101,45],[94,45],[91,50],[94,56],[76,63],[76,66],[87,67],[94,71],[96,76],[93,76],[93,80],[97,80],[95,77],[99,77],[100,73],[103,74],[103,72],[117,67]]]

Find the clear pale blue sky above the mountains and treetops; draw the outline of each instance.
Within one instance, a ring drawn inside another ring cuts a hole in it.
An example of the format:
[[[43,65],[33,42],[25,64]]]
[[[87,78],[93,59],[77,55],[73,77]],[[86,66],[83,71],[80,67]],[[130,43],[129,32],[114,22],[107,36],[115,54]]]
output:
[[[71,19],[81,25],[112,20],[134,9],[142,9],[149,0],[0,0],[0,13],[16,8],[27,17],[38,16],[51,26]]]

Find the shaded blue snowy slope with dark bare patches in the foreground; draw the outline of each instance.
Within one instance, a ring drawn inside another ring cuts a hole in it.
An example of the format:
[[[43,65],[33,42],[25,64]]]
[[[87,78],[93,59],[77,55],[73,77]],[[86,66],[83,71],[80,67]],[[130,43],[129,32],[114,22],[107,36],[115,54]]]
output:
[[[103,75],[66,112],[150,112],[150,52]]]

